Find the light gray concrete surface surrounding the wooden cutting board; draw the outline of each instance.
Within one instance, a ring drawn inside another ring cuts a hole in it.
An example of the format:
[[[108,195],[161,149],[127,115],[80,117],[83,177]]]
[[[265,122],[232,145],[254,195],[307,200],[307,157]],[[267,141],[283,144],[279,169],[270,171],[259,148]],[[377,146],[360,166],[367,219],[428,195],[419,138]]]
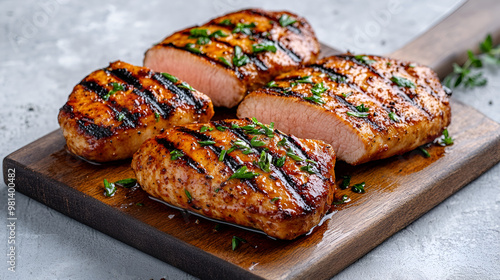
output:
[[[389,8],[392,2],[396,9]],[[57,129],[56,115],[86,74],[121,59],[140,65],[165,35],[243,7],[289,9],[322,42],[389,53],[460,1],[69,1],[0,2],[0,157]],[[500,122],[499,68],[488,86],[453,98]],[[500,279],[500,165],[346,268],[335,279]],[[0,220],[7,191],[0,184]],[[17,194],[16,272],[0,279],[192,279],[149,255]]]

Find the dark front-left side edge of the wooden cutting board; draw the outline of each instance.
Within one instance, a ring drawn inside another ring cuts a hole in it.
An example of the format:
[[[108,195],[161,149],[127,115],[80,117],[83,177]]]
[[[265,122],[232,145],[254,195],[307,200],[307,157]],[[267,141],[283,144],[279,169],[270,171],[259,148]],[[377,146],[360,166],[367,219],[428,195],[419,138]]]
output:
[[[14,161],[11,155],[3,160],[3,174],[7,184],[7,170],[16,169],[16,192],[49,205],[70,218],[201,279],[263,279],[61,182],[33,172],[29,167]],[[42,177],[45,179],[40,180]],[[85,199],[82,199],[82,196]],[[82,201],[85,201],[84,205]],[[117,228],[120,230],[116,230]],[[141,239],[136,238],[137,236],[141,236]],[[196,260],[198,265],[193,265],[193,260]]]

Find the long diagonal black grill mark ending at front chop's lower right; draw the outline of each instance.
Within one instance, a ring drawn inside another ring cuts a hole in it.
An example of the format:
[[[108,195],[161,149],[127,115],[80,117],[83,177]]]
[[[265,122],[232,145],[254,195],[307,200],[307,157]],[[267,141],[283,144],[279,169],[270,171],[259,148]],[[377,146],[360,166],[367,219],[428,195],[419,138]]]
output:
[[[243,130],[241,130],[240,128],[232,128],[231,124],[227,123],[225,121],[218,121],[218,122],[214,122],[214,123],[217,123],[217,124],[220,124],[220,125],[226,127],[228,131],[230,131],[232,134],[236,135],[239,139],[241,139],[245,143],[247,143],[248,146],[250,146],[250,148],[252,150],[256,151],[258,155],[260,155],[262,153],[262,151],[264,150],[264,148],[253,147],[251,145],[250,139],[248,139],[246,136],[247,134]],[[267,152],[273,157],[273,159],[278,158],[278,156],[275,153],[271,152],[270,150]],[[304,209],[304,211],[306,211],[306,212],[311,211],[313,207],[311,207],[311,205],[306,203],[307,198],[304,197],[302,194],[300,194],[299,186],[297,185],[295,180],[293,180],[293,178],[288,173],[286,173],[282,168],[278,168],[278,167],[274,166],[274,164],[272,164],[271,166],[272,166],[272,170],[275,171],[274,174],[276,174],[279,177],[279,179],[281,180],[281,182],[283,182],[285,184],[286,188],[289,190],[289,192],[292,193],[292,195],[295,197],[297,202],[302,205],[302,208]]]

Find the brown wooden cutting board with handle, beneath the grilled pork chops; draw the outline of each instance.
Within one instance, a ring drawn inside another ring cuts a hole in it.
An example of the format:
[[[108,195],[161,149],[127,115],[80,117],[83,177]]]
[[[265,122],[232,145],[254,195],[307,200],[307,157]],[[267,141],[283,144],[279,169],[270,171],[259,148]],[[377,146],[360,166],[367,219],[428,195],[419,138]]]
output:
[[[460,59],[458,54],[479,42],[486,33],[499,35],[498,20],[463,22],[490,13],[500,14],[499,3],[485,0],[465,4],[394,56],[427,63],[443,75],[451,63],[450,55],[455,57],[453,61]],[[478,8],[486,4],[491,5],[489,9]],[[461,33],[458,40],[453,30],[463,28],[464,24],[470,30],[465,35]],[[421,53],[421,44],[433,44],[435,38],[447,36],[448,40],[431,48],[430,58]],[[333,52],[323,46],[324,54]],[[119,188],[114,197],[107,198],[103,195],[103,179],[134,177],[130,161],[93,165],[77,159],[66,152],[60,130],[7,156],[3,171],[7,180],[9,170],[15,169],[17,191],[195,276],[324,279],[500,161],[498,123],[456,101],[452,101],[452,114],[449,131],[455,144],[430,147],[430,158],[414,151],[357,167],[338,163],[337,178],[351,175],[352,183],[365,182],[366,193],[342,191],[351,202],[337,207],[331,219],[311,234],[294,241],[272,240],[230,226],[216,231],[215,222],[182,214],[151,200],[137,188]],[[233,236],[247,243],[233,251]]]

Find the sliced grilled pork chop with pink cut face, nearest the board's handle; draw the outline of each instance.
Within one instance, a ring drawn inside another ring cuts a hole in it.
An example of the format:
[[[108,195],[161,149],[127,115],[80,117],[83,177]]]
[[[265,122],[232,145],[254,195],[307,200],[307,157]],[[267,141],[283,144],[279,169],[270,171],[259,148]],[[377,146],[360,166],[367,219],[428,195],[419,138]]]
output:
[[[278,76],[251,92],[237,115],[323,140],[339,160],[355,165],[432,141],[450,124],[451,110],[430,68],[347,54]]]

